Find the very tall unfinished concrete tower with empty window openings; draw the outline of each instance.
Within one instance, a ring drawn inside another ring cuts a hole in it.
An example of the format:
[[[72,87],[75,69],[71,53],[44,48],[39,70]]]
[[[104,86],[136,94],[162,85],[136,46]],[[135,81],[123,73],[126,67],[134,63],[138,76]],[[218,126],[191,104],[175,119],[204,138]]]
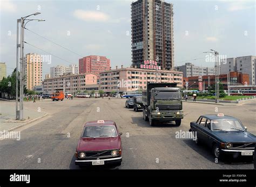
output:
[[[154,60],[164,70],[174,68],[173,5],[161,0],[131,4],[132,66]]]

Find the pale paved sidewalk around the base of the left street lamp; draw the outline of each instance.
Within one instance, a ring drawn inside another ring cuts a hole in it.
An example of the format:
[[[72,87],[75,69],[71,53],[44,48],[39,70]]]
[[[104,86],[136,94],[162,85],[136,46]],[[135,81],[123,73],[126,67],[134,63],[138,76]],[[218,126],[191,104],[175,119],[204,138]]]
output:
[[[45,112],[37,112],[24,108],[24,120],[15,120],[16,109],[15,102],[7,102],[0,100],[0,132],[14,130],[32,121],[46,116]]]

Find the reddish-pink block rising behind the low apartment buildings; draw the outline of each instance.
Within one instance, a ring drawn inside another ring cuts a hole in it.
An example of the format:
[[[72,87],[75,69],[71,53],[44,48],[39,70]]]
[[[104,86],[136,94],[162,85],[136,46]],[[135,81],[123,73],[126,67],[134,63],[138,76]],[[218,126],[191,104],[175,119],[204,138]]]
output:
[[[110,69],[110,59],[106,56],[85,56],[79,59],[79,73],[93,73],[99,75],[100,72]]]

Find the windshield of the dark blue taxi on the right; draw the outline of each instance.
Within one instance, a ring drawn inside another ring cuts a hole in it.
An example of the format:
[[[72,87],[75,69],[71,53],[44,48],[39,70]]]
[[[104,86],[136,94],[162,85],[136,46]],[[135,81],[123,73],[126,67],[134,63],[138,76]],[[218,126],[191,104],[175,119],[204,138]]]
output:
[[[244,131],[244,126],[237,119],[212,120],[212,131]]]

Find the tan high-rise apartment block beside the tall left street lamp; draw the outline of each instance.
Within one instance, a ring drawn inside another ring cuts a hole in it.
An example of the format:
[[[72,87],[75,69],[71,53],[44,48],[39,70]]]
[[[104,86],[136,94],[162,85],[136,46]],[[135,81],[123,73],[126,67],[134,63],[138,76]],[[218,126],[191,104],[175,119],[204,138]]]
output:
[[[36,85],[42,85],[42,58],[36,53],[28,53],[25,56],[25,85],[26,89],[33,90]]]

